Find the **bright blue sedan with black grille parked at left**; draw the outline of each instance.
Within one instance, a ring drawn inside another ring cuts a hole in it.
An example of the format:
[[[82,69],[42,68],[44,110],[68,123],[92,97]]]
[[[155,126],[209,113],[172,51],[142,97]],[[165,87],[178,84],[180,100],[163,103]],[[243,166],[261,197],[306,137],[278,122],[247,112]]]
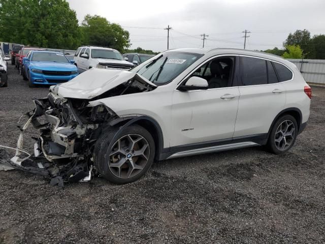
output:
[[[31,51],[23,58],[23,77],[29,87],[37,84],[55,85],[67,82],[78,75],[74,61],[60,52]]]

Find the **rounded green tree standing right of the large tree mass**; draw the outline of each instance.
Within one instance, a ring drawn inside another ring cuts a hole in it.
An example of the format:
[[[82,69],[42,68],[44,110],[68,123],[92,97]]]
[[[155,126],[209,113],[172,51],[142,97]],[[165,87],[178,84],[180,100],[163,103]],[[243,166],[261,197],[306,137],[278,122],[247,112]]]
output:
[[[129,33],[106,18],[87,14],[81,23],[83,44],[107,46],[123,52],[129,47]]]

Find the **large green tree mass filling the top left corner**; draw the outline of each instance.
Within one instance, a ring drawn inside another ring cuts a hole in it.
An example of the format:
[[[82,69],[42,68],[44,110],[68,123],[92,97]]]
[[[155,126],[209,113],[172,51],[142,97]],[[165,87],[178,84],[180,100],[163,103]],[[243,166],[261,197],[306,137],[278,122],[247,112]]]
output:
[[[76,12],[65,0],[0,0],[0,40],[30,46],[75,49]]]

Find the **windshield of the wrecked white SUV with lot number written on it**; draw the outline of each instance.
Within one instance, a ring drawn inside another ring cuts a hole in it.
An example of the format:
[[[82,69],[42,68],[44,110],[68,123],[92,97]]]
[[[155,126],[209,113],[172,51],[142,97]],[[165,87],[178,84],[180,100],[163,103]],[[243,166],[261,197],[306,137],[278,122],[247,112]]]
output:
[[[189,52],[164,52],[157,55],[157,59],[143,66],[137,73],[156,85],[164,85],[202,56],[203,54]]]

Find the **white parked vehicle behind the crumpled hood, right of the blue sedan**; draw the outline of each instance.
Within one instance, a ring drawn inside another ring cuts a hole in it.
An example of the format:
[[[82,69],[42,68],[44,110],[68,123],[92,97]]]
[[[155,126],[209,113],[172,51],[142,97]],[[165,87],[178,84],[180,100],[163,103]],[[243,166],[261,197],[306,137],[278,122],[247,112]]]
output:
[[[74,60],[81,72],[91,68],[129,70],[135,66],[125,61],[119,51],[107,47],[79,47]]]

